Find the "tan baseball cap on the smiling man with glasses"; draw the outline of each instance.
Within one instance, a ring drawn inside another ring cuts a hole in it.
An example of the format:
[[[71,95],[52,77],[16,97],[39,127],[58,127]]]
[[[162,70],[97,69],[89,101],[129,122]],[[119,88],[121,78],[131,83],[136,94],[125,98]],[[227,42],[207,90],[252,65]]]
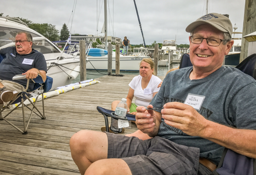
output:
[[[209,13],[206,14],[200,18],[198,18],[196,21],[192,22],[188,27],[186,28],[186,32],[191,33],[198,25],[201,24],[210,24],[216,29],[227,32],[230,37],[232,38],[232,23],[230,19],[222,14],[219,13]]]

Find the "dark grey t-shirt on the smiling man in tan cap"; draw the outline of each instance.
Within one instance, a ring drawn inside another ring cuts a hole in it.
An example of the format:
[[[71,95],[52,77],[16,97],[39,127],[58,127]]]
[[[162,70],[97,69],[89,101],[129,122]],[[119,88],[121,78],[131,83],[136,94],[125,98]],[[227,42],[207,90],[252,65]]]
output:
[[[256,81],[251,76],[237,68],[222,66],[206,78],[190,80],[192,70],[193,67],[187,67],[168,73],[150,104],[160,108],[168,102],[184,103],[189,93],[203,95],[205,99],[198,113],[204,118],[238,129],[256,129]],[[158,136],[200,148],[200,157],[215,164],[219,163],[224,150],[217,143],[167,125],[163,118]]]

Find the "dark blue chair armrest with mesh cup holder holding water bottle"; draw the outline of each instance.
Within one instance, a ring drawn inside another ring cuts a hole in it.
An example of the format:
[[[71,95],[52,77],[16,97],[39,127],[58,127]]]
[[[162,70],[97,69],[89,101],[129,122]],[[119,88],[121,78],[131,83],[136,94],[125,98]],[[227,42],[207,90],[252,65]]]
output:
[[[107,132],[109,132],[109,119],[107,117],[111,117],[110,130],[116,133],[122,132],[122,128],[118,128],[118,119],[136,121],[135,115],[132,115],[132,114],[126,114],[125,118],[120,118],[114,115],[115,111],[107,110],[102,107],[97,107],[97,110],[99,111],[99,113],[102,113],[102,115],[104,116]]]

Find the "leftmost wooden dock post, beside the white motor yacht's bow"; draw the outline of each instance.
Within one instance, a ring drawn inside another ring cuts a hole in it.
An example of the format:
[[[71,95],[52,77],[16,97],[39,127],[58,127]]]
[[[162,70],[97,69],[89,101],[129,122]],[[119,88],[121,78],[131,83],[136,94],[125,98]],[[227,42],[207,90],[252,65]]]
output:
[[[80,81],[86,80],[86,48],[85,41],[79,41],[80,48]]]

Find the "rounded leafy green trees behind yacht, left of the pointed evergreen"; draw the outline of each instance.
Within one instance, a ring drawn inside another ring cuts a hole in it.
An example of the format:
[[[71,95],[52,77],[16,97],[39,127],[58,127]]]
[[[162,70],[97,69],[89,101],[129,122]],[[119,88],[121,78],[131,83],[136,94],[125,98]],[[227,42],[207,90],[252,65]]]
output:
[[[38,24],[38,23],[33,23],[29,25],[29,27],[36,32],[40,33],[43,35],[45,38],[47,38],[50,41],[58,41],[59,39],[59,31],[55,28],[55,25],[52,24]]]

